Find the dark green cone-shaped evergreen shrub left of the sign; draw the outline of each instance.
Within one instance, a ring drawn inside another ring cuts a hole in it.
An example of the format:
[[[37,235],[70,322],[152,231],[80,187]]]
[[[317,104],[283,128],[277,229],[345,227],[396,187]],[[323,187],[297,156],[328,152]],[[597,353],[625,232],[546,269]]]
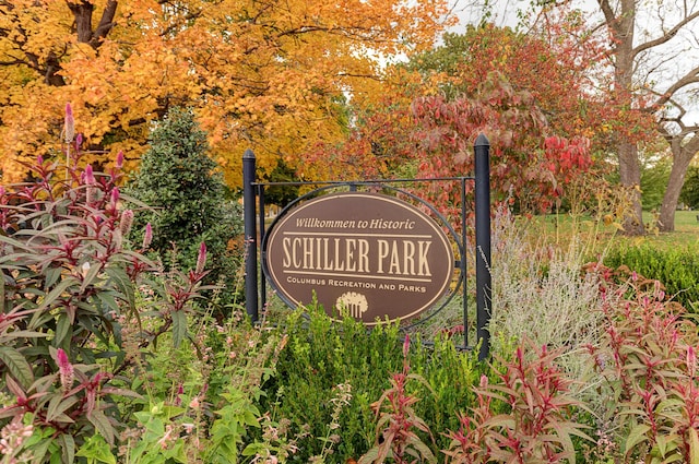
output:
[[[153,130],[150,142],[126,189],[146,205],[137,210],[135,224],[152,225],[151,248],[166,269],[192,269],[204,241],[210,272],[204,282],[223,281],[233,292],[240,257],[230,248],[230,240],[242,231],[242,214],[238,203],[226,198],[223,176],[206,154],[205,132],[190,110],[173,108]]]

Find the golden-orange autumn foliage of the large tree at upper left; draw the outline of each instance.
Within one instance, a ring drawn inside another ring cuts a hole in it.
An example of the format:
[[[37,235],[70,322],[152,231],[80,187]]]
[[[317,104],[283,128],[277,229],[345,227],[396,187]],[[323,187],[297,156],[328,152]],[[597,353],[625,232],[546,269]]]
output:
[[[92,151],[135,167],[153,121],[193,107],[230,186],[339,140],[343,95],[371,95],[382,58],[433,45],[434,0],[0,0],[0,169],[50,156],[72,105]],[[111,153],[107,153],[111,152]]]

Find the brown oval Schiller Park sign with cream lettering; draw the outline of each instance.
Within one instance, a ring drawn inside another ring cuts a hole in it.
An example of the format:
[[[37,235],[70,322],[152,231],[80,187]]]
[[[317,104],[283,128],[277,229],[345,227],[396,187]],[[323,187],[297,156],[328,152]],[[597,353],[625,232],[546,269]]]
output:
[[[342,192],[292,209],[263,247],[268,277],[288,304],[313,294],[331,317],[367,324],[412,318],[446,295],[454,269],[438,224],[393,197]]]

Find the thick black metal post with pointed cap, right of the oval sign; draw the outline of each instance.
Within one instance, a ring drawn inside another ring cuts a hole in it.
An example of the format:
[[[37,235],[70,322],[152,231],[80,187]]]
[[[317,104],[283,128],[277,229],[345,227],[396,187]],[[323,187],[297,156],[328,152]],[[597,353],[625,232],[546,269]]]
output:
[[[490,302],[493,281],[490,275],[490,142],[481,134],[474,144],[475,212],[476,212],[476,319],[477,341],[481,342],[478,359],[490,355]]]

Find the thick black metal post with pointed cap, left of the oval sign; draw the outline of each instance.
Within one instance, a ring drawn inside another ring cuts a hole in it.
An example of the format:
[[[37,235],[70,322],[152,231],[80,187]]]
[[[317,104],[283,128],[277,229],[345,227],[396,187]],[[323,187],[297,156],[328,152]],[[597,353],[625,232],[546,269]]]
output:
[[[252,322],[258,321],[258,233],[254,205],[254,153],[242,155],[242,205],[245,221],[245,309]]]

